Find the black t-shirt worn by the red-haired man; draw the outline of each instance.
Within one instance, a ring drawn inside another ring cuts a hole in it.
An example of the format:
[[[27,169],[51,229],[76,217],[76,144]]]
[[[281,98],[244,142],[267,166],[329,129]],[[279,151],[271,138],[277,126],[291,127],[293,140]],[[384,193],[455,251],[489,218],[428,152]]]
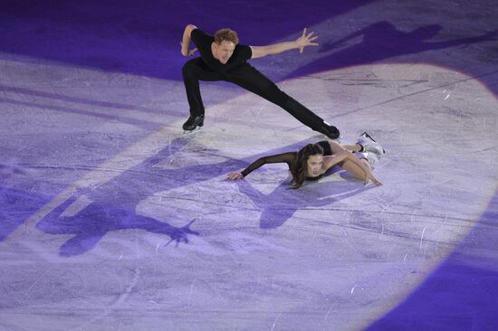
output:
[[[190,39],[196,44],[197,51],[201,54],[202,61],[204,61],[209,69],[216,72],[232,71],[235,68],[244,65],[245,61],[251,59],[253,52],[251,47],[241,44],[235,45],[235,50],[226,64],[217,61],[211,52],[211,44],[215,42],[215,38],[201,29],[194,29],[190,33]]]

